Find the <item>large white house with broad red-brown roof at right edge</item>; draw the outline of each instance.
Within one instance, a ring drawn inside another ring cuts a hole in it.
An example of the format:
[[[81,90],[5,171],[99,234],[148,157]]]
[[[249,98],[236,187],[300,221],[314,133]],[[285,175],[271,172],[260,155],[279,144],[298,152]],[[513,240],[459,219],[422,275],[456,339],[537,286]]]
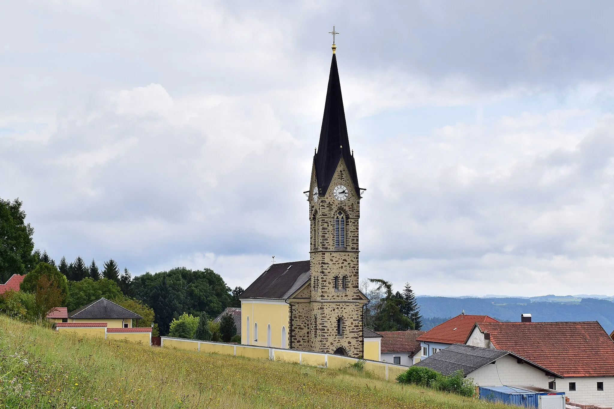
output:
[[[559,373],[563,379],[551,378],[548,388],[564,391],[574,402],[614,403],[614,342],[597,321],[481,322],[465,343],[511,351]]]

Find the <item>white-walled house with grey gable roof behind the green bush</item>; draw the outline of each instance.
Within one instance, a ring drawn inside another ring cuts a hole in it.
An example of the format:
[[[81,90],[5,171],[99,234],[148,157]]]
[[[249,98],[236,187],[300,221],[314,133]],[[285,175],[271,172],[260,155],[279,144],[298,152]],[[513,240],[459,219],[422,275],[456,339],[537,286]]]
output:
[[[442,375],[462,371],[479,386],[527,384],[546,388],[551,379],[561,375],[511,351],[455,343],[416,363]]]

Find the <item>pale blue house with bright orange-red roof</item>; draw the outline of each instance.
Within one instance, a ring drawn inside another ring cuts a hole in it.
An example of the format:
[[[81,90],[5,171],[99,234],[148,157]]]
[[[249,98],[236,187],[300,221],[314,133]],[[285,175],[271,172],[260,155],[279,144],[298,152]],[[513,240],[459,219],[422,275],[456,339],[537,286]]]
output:
[[[422,348],[421,358],[431,356],[454,343],[465,343],[474,324],[484,322],[497,323],[499,321],[488,315],[466,315],[463,312],[429,329],[417,338]]]

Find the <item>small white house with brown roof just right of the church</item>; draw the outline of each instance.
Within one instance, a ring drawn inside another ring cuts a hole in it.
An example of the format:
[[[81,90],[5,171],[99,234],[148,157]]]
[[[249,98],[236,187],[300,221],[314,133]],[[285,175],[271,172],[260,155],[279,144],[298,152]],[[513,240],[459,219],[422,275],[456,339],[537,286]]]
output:
[[[381,338],[381,361],[411,366],[419,362],[422,348],[418,337],[424,331],[378,331]]]

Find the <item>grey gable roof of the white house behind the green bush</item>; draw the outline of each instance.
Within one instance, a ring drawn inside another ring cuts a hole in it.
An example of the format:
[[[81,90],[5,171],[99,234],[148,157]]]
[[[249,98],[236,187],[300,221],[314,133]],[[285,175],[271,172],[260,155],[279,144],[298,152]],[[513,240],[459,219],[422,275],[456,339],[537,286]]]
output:
[[[516,359],[521,359],[526,364],[529,364],[539,370],[543,370],[546,375],[562,378],[561,375],[558,375],[558,373],[545,369],[542,366],[537,365],[534,362],[530,362],[524,357],[518,356],[513,352],[480,348],[479,346],[463,345],[460,343],[450,345],[445,350],[438,351],[437,353],[422,359],[422,361],[414,365],[436,370],[437,372],[446,376],[452,375],[457,370],[462,370],[463,375],[466,377],[475,370],[491,364],[491,362],[497,361],[497,359],[506,355],[511,355]]]

